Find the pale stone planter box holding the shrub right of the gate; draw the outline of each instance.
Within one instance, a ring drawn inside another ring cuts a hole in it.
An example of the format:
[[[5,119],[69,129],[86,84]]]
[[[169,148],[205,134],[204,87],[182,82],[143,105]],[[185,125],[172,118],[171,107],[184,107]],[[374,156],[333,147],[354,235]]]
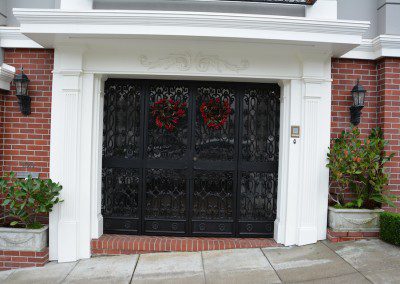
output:
[[[379,232],[382,209],[336,209],[329,207],[328,224],[339,232]]]

